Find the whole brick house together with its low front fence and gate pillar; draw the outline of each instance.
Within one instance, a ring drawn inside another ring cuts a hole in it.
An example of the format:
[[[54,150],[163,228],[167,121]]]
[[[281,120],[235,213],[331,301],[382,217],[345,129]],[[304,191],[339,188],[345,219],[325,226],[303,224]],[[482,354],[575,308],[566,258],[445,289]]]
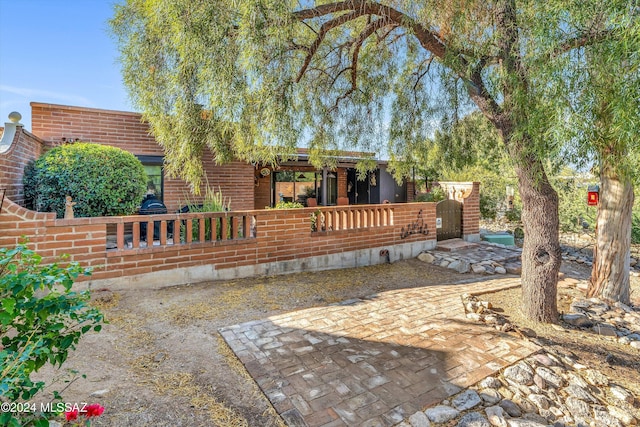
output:
[[[70,261],[94,269],[92,276],[78,279],[88,286],[161,287],[358,267],[415,257],[439,240],[439,205],[395,203],[411,200],[413,187],[397,186],[384,163],[357,181],[357,155],[350,153],[336,159],[335,170],[321,171],[309,165],[304,151],[297,161],[276,169],[244,162],[218,166],[205,159],[209,184],[231,196],[232,210],[176,212],[187,197],[196,200],[185,182],[162,174],[162,150],[139,114],[41,103],[32,103],[32,109],[33,133],[24,130],[18,114],[0,128],[0,248],[27,238],[44,262],[67,254]],[[160,183],[170,211],[60,219],[55,213],[25,209],[25,165],[55,145],[76,140],[137,155],[149,178]],[[449,193],[463,205],[459,236],[477,241],[479,183],[449,184]],[[320,197],[318,207],[264,209],[314,192]]]

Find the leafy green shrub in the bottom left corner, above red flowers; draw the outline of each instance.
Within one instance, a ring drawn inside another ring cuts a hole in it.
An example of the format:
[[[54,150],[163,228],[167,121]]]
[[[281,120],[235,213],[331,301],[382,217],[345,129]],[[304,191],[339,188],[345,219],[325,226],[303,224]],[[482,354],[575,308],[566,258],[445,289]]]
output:
[[[0,248],[2,401],[31,400],[45,386],[42,381],[34,382],[31,375],[46,363],[61,366],[81,336],[92,329],[100,331],[103,321],[97,309],[88,307],[88,292],[71,290],[74,280],[90,270],[77,263],[62,267],[41,261],[24,245]],[[27,425],[25,420],[33,425],[40,422],[0,414],[2,425]]]

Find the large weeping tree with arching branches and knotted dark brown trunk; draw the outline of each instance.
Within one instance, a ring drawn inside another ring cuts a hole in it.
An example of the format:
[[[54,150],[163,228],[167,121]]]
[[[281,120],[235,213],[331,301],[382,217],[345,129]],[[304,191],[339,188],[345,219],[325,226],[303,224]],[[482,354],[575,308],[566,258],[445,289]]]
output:
[[[275,161],[305,142],[324,166],[342,146],[400,149],[439,118],[480,110],[518,177],[525,314],[554,322],[558,197],[544,159],[557,147],[543,71],[611,30],[544,31],[547,12],[515,0],[128,0],[111,25],[167,170],[196,186],[205,148]],[[543,36],[553,42],[540,48]]]

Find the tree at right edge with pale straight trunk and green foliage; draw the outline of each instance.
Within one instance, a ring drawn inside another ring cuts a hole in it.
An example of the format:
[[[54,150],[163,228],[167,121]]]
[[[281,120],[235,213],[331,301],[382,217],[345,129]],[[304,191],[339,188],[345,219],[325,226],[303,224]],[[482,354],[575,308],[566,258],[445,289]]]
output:
[[[587,296],[629,303],[633,185],[640,182],[640,3],[586,3],[567,20],[615,32],[556,64],[566,78],[554,81],[565,100],[554,128],[573,159],[595,160],[600,176]]]

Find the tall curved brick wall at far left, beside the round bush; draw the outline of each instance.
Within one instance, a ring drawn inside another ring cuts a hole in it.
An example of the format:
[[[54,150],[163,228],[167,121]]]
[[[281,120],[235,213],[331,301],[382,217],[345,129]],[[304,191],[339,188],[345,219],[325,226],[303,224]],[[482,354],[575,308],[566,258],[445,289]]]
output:
[[[4,129],[0,129],[0,134]],[[0,149],[0,189],[6,189],[5,197],[24,206],[22,176],[24,167],[40,157],[43,141],[18,126],[10,145]]]

